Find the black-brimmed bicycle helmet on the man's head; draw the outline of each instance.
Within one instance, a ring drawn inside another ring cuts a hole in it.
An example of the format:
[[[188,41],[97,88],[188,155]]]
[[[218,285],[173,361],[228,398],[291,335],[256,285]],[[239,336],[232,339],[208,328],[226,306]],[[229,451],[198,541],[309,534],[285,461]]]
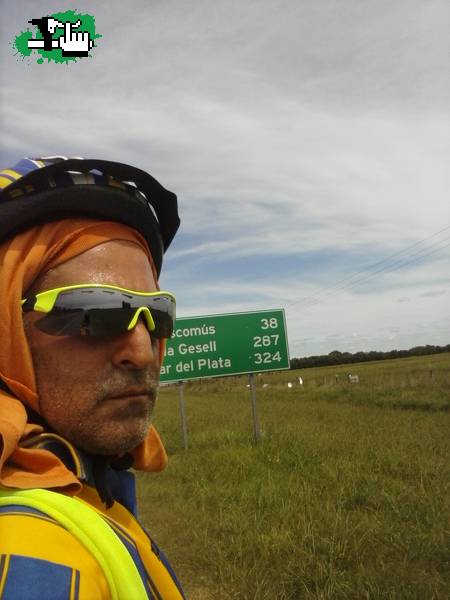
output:
[[[25,158],[0,171],[0,243],[35,225],[73,216],[118,221],[139,231],[158,275],[180,226],[176,195],[130,165],[47,156]]]

